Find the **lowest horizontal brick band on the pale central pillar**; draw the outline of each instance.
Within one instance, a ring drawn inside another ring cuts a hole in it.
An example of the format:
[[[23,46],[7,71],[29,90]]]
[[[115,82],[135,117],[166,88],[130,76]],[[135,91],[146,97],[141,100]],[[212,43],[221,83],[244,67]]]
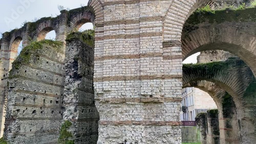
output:
[[[181,122],[177,121],[100,121],[100,125],[142,125],[142,126],[181,126]]]

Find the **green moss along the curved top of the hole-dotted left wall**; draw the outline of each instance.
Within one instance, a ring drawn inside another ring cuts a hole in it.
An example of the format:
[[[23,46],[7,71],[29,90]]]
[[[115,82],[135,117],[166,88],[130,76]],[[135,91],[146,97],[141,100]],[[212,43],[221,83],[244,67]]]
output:
[[[22,64],[28,64],[31,60],[31,55],[36,54],[38,50],[41,50],[44,45],[51,45],[55,51],[59,51],[61,46],[63,45],[60,41],[53,41],[53,40],[41,40],[41,41],[33,41],[28,46],[24,47],[24,49],[20,52],[18,57],[12,63],[12,70],[18,69]],[[10,75],[11,76],[11,75]]]

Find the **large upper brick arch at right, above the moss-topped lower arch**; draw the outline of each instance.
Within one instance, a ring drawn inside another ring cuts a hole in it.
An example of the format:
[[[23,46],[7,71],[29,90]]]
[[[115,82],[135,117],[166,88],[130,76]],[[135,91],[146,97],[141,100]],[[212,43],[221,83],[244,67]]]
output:
[[[256,37],[233,28],[203,28],[188,33],[181,40],[183,60],[197,52],[224,50],[239,56],[256,74]]]

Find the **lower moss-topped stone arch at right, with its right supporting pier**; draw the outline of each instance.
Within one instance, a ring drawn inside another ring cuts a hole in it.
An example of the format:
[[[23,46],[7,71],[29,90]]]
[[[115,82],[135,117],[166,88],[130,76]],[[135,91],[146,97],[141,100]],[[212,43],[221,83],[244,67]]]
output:
[[[253,117],[249,114],[246,114],[248,113],[248,111],[252,109],[251,107],[248,107],[248,104],[251,103],[251,101],[248,101],[246,100],[246,98],[244,98],[245,97],[244,95],[246,95],[248,86],[254,80],[253,74],[250,68],[246,66],[245,63],[243,62],[241,63],[241,61],[239,62],[238,60],[229,59],[225,62],[218,62],[218,63],[226,63],[229,66],[227,67],[225,67],[224,65],[217,66],[217,65],[214,65],[213,63],[196,64],[194,65],[194,67],[193,66],[189,67],[186,65],[183,66],[183,87],[185,86],[191,87],[191,86],[198,85],[198,83],[199,84],[202,83],[201,81],[209,81],[209,82],[215,83],[216,85],[218,85],[219,87],[227,91],[228,95],[231,95],[231,96],[229,96],[230,98],[228,98],[227,100],[224,100],[226,97],[225,95],[225,97],[223,97],[224,99],[222,101],[222,105],[223,105],[223,108],[225,108],[225,105],[226,105],[225,103],[231,104],[233,101],[233,105],[234,105],[233,107],[235,108],[233,112],[235,116],[225,117],[225,114],[223,114],[223,122],[225,122],[225,126],[228,128],[226,130],[229,130],[230,133],[232,133],[231,135],[233,137],[237,137],[238,139],[236,140],[249,139],[253,141],[254,138],[249,137],[247,135],[248,128],[246,127],[246,125],[244,126],[240,125],[241,123],[243,124],[255,123],[253,121]],[[209,87],[205,83],[202,83],[202,84]],[[223,112],[224,112],[224,109],[223,109]],[[230,122],[232,123],[229,123],[227,119],[229,119]],[[231,127],[227,125],[228,124],[227,122]],[[239,134],[241,134],[241,136]],[[250,132],[250,134],[252,135],[253,132]],[[232,139],[228,139],[228,136],[226,136],[225,140],[228,141]]]

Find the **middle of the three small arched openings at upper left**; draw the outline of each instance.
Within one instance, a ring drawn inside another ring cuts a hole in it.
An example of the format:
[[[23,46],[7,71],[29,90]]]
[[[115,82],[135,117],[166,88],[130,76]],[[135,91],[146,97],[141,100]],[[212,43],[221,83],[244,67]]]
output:
[[[40,41],[43,39],[55,40],[56,39],[55,30],[52,27],[46,27],[42,29],[37,36],[37,41]]]

